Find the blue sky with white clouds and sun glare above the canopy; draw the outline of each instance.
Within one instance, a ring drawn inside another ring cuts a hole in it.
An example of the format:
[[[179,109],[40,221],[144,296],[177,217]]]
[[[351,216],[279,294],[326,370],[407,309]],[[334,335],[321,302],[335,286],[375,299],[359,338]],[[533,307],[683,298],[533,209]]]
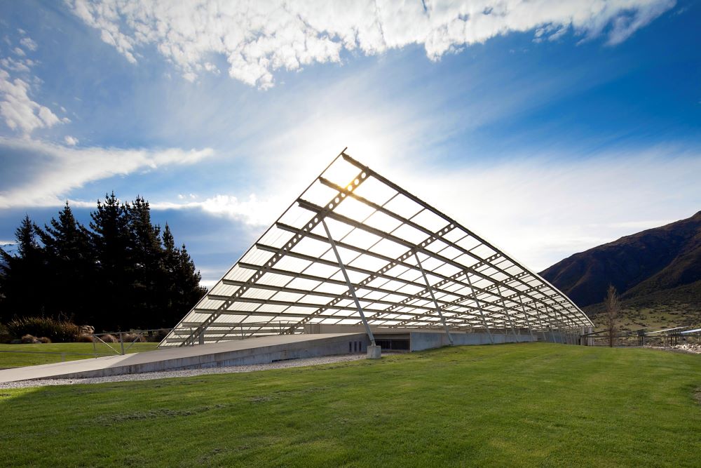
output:
[[[343,147],[540,270],[701,209],[691,1],[0,4],[0,243],[142,195],[210,285]]]

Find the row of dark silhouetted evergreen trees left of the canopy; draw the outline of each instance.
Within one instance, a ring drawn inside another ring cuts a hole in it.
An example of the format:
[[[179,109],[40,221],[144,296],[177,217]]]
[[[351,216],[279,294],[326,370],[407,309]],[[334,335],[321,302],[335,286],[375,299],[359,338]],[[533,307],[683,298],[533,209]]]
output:
[[[95,330],[170,328],[205,293],[185,246],[151,222],[149,202],[97,201],[89,229],[68,203],[43,229],[27,215],[16,252],[0,248],[0,322],[52,316]]]

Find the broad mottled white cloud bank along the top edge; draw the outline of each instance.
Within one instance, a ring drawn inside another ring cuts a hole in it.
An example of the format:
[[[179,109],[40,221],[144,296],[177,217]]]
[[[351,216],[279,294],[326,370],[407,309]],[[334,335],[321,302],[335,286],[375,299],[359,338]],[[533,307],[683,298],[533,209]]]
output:
[[[341,51],[367,55],[421,44],[431,60],[494,36],[536,29],[538,41],[568,30],[618,44],[672,8],[674,0],[229,1],[135,3],[66,0],[102,40],[132,63],[137,49],[156,46],[189,81],[218,72],[269,88],[273,72],[314,62],[339,62]],[[424,8],[424,5],[426,8]]]

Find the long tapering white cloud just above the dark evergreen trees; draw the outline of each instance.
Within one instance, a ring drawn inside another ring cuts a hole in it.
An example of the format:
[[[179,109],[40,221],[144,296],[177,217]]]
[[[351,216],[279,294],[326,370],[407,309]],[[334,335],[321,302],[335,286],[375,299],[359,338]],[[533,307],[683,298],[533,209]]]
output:
[[[210,148],[162,150],[118,148],[69,148],[28,139],[0,138],[6,163],[27,154],[41,158],[30,180],[0,192],[0,208],[60,206],[72,190],[88,182],[149,171],[162,166],[192,164],[212,156]]]

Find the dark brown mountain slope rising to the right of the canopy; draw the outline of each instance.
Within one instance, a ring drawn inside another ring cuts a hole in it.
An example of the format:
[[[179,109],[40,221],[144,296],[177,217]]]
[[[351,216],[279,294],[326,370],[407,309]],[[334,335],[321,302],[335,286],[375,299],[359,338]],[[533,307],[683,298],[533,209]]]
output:
[[[601,302],[613,284],[624,297],[701,280],[701,211],[576,253],[540,273],[580,307]]]

